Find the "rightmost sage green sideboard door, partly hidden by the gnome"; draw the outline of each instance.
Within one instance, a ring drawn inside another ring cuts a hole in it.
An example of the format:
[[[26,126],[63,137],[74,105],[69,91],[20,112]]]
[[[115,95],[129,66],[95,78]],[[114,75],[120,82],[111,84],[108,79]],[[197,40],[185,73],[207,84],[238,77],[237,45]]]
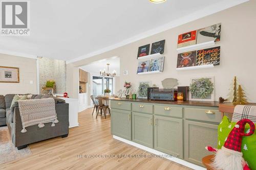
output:
[[[216,148],[218,125],[185,120],[185,160],[203,166],[202,158],[211,153],[206,146]]]

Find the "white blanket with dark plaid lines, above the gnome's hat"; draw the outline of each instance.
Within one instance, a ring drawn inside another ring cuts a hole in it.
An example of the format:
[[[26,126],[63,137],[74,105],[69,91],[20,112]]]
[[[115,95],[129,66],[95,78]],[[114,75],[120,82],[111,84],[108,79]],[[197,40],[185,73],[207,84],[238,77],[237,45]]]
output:
[[[243,118],[248,118],[255,124],[256,123],[256,106],[237,105],[234,108],[232,122],[238,122]]]

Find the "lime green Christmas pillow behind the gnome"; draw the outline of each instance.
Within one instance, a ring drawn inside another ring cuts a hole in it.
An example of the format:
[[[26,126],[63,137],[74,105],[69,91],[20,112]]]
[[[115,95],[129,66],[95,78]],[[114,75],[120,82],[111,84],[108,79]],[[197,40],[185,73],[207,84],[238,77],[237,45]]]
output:
[[[228,134],[236,125],[236,122],[230,122],[227,116],[224,116],[222,122],[218,126],[218,149],[224,145]],[[246,124],[245,133],[249,132],[250,126]],[[251,170],[256,170],[256,133],[251,136],[244,136],[242,139],[241,150],[245,161],[249,164]]]

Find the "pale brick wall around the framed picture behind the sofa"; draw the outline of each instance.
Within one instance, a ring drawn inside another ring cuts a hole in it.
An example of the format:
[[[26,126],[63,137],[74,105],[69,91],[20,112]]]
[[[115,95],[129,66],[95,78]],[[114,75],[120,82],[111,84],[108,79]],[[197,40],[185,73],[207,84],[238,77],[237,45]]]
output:
[[[0,54],[0,66],[19,68],[19,83],[0,83],[0,94],[37,93],[36,59]],[[30,84],[33,81],[33,84]]]

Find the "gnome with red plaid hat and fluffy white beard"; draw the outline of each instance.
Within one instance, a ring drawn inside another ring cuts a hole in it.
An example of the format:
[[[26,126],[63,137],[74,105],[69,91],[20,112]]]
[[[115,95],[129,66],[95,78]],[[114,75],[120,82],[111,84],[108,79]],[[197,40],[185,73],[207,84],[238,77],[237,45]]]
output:
[[[250,125],[250,131],[244,133],[245,125]],[[210,152],[215,152],[214,162],[211,164],[214,169],[222,170],[250,170],[241,152],[241,144],[243,136],[250,136],[254,133],[255,126],[250,119],[240,120],[229,133],[223,147],[218,150],[212,147],[205,149]]]

